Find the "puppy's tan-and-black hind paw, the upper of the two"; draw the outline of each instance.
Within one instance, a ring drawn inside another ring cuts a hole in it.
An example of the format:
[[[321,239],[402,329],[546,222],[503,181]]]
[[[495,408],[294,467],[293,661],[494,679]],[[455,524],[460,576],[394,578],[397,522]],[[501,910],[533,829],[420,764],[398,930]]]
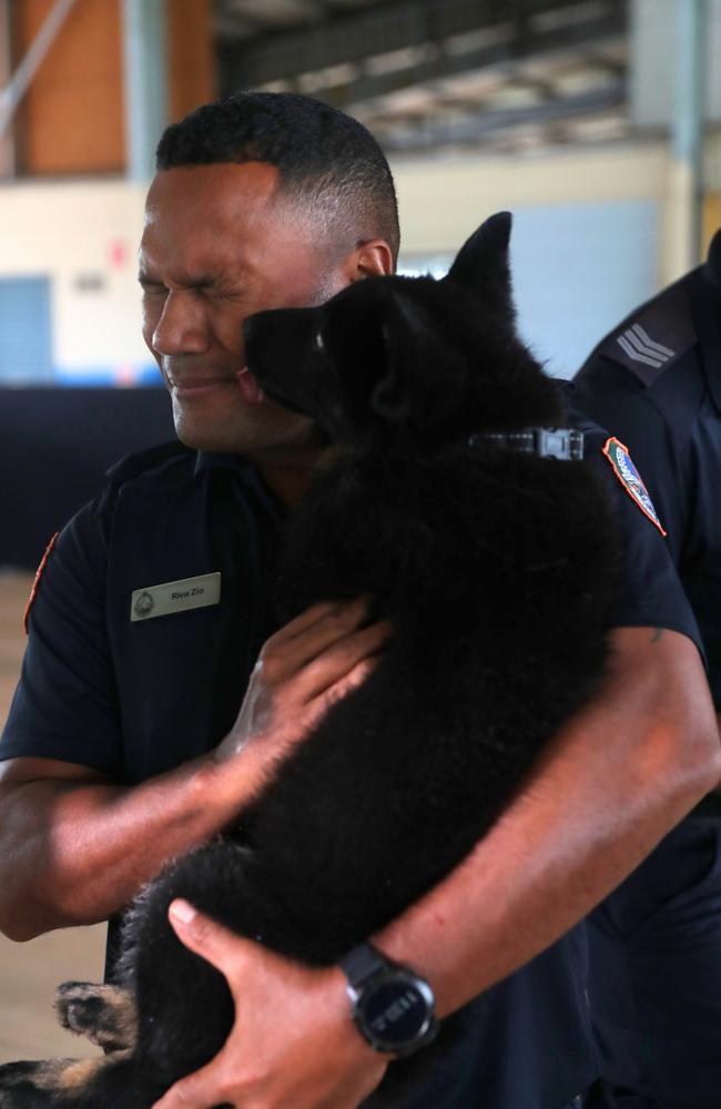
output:
[[[120,986],[65,981],[55,991],[55,1010],[63,1028],[85,1036],[105,1052],[131,1051],[135,1047],[135,1001]]]

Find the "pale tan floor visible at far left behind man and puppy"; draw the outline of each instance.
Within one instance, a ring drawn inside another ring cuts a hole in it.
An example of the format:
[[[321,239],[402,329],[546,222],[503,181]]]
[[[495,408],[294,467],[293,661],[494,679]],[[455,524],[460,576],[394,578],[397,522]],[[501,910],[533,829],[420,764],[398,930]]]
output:
[[[0,572],[0,728],[4,723],[24,649],[22,613],[32,576]],[[97,1054],[55,1024],[52,996],[60,981],[99,981],[105,928],[68,928],[29,944],[0,936],[0,1064]]]

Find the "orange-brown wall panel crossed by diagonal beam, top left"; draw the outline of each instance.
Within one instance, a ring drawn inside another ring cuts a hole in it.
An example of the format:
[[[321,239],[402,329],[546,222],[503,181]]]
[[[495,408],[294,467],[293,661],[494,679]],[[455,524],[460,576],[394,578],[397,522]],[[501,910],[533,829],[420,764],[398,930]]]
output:
[[[19,0],[16,58],[52,0]],[[75,0],[22,105],[19,171],[31,175],[124,169],[119,0]]]

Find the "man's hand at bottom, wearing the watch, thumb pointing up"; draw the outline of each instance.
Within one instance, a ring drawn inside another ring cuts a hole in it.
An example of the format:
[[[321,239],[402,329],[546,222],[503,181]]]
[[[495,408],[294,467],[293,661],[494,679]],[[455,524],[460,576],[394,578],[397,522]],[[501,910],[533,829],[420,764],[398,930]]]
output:
[[[176,1082],[154,1109],[356,1109],[385,1074],[351,1020],[343,974],[311,970],[173,902],[182,943],[221,970],[235,1026],[202,1070]]]

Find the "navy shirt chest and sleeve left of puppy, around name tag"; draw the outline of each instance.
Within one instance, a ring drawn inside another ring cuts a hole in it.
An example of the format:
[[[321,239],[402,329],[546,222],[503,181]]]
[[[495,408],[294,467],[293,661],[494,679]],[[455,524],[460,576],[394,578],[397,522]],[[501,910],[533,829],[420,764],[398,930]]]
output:
[[[240,457],[167,444],[109,474],[65,529],[28,621],[0,755],[80,763],[126,785],[230,730],[265,627],[280,509]],[[221,572],[219,604],[131,621],[131,594]]]

